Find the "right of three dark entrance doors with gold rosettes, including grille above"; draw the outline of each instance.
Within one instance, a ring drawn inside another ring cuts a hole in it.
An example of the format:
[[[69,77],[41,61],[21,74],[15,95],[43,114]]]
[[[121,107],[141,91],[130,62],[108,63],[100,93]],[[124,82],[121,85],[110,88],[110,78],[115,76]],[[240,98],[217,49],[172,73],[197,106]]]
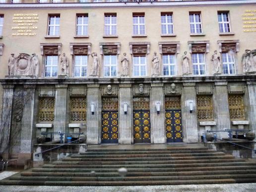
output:
[[[166,141],[183,142],[180,96],[165,98],[165,117]]]

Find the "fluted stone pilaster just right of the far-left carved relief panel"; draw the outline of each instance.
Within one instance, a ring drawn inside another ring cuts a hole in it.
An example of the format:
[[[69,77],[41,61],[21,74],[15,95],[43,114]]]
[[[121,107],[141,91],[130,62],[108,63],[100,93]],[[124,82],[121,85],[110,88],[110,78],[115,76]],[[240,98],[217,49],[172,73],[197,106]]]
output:
[[[35,85],[25,84],[23,117],[21,122],[20,152],[32,153]]]

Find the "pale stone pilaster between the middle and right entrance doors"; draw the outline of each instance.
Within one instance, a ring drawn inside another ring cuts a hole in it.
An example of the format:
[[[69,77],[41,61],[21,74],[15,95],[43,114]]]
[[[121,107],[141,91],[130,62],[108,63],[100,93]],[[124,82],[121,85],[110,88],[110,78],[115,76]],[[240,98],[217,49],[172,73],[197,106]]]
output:
[[[165,108],[163,83],[151,83],[150,92],[150,122],[151,143],[165,143]],[[157,114],[156,105],[160,103],[160,113]]]

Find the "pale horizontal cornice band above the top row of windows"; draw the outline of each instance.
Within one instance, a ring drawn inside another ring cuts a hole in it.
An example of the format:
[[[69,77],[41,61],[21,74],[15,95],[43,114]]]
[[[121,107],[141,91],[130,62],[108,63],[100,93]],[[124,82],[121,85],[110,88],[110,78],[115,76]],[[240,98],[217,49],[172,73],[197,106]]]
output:
[[[0,8],[105,8],[105,7],[168,7],[254,4],[256,0],[156,1],[156,2],[93,2],[93,3],[4,3]]]

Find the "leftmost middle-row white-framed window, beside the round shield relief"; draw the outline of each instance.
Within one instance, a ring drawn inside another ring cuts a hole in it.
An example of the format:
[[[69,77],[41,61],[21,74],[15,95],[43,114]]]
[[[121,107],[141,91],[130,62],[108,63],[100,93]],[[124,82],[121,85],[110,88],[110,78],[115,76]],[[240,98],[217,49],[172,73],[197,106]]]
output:
[[[58,56],[45,56],[45,77],[56,77],[58,71]]]

